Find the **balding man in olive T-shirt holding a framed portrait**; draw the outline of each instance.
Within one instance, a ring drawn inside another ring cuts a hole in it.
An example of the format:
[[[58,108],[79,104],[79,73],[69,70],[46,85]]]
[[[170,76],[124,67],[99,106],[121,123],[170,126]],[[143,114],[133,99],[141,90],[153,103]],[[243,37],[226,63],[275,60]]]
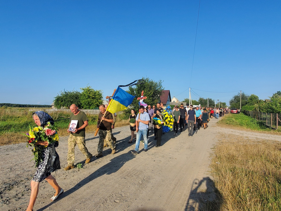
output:
[[[71,134],[68,138],[67,167],[64,168],[66,171],[74,168],[74,148],[76,144],[86,157],[85,163],[89,163],[92,158],[92,154],[85,146],[85,127],[88,126],[88,118],[75,104],[70,106],[70,110],[72,114],[70,115],[67,132]],[[71,120],[78,120],[76,129],[73,131],[69,131]]]

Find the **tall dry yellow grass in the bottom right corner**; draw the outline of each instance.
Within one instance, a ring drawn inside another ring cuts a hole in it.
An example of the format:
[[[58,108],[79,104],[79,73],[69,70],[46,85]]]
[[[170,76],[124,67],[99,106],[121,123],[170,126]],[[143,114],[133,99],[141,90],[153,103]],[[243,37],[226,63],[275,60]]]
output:
[[[220,210],[280,211],[281,142],[234,135],[219,139],[210,167]]]

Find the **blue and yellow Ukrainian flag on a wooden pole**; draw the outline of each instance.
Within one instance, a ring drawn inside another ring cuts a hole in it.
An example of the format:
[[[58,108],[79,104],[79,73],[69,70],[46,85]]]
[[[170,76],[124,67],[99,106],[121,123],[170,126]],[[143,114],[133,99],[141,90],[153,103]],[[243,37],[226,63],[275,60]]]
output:
[[[123,111],[133,102],[134,98],[135,96],[130,95],[128,92],[118,87],[110,100],[107,111],[112,114]]]

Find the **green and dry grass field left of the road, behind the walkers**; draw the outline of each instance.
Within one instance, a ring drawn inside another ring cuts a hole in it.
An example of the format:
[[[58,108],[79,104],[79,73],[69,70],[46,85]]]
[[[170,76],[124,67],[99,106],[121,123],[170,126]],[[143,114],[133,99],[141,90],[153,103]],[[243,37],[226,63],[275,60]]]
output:
[[[0,145],[26,142],[26,133],[29,126],[36,126],[33,118],[32,111],[28,108],[11,108],[0,109]],[[38,111],[42,108],[38,108]],[[66,119],[70,117],[69,113],[51,113],[54,120]],[[86,127],[86,132],[94,132],[97,129],[98,115],[87,115],[89,118],[89,125]],[[55,121],[60,136],[68,135],[67,127],[69,120]],[[116,117],[115,127],[129,125],[128,120],[122,120],[119,116]]]

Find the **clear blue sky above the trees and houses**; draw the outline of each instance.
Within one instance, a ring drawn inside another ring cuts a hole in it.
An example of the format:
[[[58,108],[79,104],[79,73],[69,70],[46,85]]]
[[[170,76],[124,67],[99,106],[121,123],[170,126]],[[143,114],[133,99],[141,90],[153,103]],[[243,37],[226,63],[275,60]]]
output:
[[[280,90],[281,1],[201,1],[194,51],[198,6],[0,0],[0,103],[51,104],[87,84],[107,96],[142,77],[179,100],[188,87],[227,104]]]

